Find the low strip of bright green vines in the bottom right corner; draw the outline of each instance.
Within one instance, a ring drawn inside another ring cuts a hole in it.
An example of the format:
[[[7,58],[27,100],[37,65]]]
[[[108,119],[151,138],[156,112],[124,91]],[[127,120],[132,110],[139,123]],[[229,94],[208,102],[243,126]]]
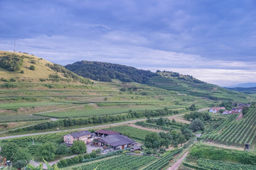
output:
[[[238,170],[238,169],[246,169],[246,170],[255,170],[255,165],[250,164],[238,164],[238,163],[227,163],[221,161],[214,161],[210,159],[198,159],[198,166],[206,168],[206,169],[223,169],[223,170]]]

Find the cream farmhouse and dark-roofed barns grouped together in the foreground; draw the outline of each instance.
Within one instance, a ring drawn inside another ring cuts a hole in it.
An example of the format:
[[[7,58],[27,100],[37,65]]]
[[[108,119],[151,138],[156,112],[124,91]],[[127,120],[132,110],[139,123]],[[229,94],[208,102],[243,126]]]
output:
[[[75,140],[82,140],[87,145],[90,144],[92,146],[112,149],[125,149],[134,146],[135,143],[134,140],[122,135],[120,132],[110,130],[97,130],[95,133],[83,130],[64,135],[63,141],[69,147],[73,145]]]

